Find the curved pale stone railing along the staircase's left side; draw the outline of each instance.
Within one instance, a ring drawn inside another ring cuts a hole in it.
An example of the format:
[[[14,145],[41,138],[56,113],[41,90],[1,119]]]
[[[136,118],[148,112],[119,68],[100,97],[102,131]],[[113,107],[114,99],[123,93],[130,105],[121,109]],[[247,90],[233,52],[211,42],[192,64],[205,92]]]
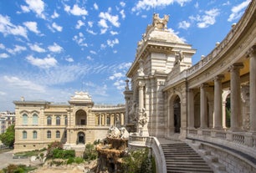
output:
[[[151,148],[152,155],[154,155],[156,160],[156,172],[166,173],[165,156],[163,150],[161,149],[160,142],[156,139],[156,137],[130,135],[128,145],[130,148]]]

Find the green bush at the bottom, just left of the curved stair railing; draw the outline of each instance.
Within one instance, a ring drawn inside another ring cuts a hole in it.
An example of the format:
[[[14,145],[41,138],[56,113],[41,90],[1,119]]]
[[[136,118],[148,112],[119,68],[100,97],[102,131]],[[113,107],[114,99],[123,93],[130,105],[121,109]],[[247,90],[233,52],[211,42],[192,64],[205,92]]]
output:
[[[156,172],[155,160],[149,156],[149,150],[134,150],[128,156],[123,157],[121,165],[124,173],[154,173]]]

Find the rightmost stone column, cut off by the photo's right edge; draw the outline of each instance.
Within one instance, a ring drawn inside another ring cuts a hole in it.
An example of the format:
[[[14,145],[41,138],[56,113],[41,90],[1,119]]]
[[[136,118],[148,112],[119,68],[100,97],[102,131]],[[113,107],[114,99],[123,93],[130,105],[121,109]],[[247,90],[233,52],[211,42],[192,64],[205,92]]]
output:
[[[250,131],[256,133],[256,45],[248,50],[250,61]]]

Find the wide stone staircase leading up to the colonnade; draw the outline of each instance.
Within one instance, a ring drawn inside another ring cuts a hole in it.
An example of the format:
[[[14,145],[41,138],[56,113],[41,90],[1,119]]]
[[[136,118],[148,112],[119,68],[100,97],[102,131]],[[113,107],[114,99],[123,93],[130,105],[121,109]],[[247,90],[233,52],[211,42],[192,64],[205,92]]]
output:
[[[171,172],[213,172],[189,145],[184,142],[161,144],[166,159],[167,173]]]

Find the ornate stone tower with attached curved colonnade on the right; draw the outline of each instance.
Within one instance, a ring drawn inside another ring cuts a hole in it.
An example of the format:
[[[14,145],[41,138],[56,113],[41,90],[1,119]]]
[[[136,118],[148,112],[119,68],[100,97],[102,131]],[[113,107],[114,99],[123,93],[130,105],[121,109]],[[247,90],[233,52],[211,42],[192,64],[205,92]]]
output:
[[[150,145],[159,165],[164,160],[157,139],[216,146],[223,163],[231,154],[217,146],[256,158],[255,18],[252,1],[226,38],[192,65],[196,50],[166,29],[168,16],[154,14],[126,74],[131,81],[126,80],[124,91],[125,115],[137,132],[130,145],[137,140]],[[243,166],[243,159],[230,157],[233,167]]]

